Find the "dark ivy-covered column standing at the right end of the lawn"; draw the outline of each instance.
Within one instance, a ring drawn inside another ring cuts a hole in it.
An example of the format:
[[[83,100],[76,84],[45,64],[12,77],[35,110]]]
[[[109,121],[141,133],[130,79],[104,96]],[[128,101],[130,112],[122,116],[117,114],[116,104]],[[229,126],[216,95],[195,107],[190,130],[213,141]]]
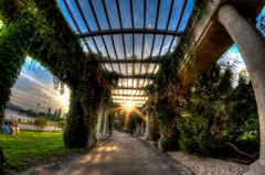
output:
[[[81,90],[77,87],[72,87],[70,111],[63,134],[64,143],[68,147],[84,147],[87,145],[87,129],[84,124],[84,110],[81,97]]]

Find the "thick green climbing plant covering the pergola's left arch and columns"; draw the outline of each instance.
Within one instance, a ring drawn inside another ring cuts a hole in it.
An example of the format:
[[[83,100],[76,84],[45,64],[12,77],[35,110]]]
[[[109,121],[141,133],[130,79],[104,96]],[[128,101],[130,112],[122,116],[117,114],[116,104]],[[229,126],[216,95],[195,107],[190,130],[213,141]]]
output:
[[[100,69],[95,55],[86,55],[54,0],[0,2],[0,119],[24,57],[30,55],[71,89],[64,132],[70,147],[85,146],[103,96],[116,76]],[[117,79],[117,78],[116,78]],[[109,97],[109,96],[107,96]]]

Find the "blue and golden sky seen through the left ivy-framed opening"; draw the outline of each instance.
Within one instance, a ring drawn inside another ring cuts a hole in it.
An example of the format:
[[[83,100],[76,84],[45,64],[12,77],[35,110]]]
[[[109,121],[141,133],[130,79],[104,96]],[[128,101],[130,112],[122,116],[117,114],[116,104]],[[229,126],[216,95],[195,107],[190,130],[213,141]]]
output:
[[[32,58],[28,56],[11,89],[10,101],[24,109],[35,110],[36,103],[40,103],[39,111],[47,112],[50,106],[53,112],[59,108],[67,112],[68,88],[66,87],[65,92],[61,95],[54,89],[52,74],[39,63],[32,63]]]

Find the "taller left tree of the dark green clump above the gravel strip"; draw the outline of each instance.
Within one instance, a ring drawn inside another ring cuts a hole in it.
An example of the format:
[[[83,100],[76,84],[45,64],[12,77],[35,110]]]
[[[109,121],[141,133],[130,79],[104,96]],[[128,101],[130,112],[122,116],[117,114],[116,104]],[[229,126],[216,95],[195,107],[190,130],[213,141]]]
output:
[[[181,150],[211,154],[222,144],[229,120],[225,97],[232,89],[231,77],[229,67],[221,74],[221,67],[214,65],[179,98],[177,127]]]

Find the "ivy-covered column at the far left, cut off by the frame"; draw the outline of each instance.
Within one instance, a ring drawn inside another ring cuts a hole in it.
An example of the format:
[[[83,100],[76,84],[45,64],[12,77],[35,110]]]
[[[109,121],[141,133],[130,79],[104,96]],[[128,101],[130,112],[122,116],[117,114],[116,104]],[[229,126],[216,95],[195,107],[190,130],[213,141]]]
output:
[[[0,124],[30,45],[31,31],[22,22],[9,23],[0,30]]]

